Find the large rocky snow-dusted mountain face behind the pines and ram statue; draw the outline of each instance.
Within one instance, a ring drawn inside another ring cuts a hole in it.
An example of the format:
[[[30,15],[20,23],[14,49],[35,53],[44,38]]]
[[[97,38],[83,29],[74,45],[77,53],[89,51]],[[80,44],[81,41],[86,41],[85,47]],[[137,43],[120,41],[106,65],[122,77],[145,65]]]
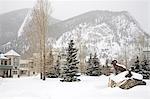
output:
[[[141,53],[146,37],[149,37],[126,11],[92,11],[66,23],[69,30],[59,37],[56,47],[64,49],[73,39],[87,55],[96,52],[100,58],[122,60],[127,57],[131,60]]]

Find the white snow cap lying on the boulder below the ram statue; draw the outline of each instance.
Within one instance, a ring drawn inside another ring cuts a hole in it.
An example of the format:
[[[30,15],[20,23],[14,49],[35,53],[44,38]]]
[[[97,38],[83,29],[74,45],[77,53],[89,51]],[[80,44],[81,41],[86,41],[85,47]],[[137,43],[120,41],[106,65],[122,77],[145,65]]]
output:
[[[124,71],[116,76],[111,76],[110,79],[112,79],[115,82],[120,82],[129,78],[126,78],[125,76],[128,74],[128,71]],[[132,76],[131,78],[136,78],[136,79],[143,79],[143,76],[141,74],[131,72]]]

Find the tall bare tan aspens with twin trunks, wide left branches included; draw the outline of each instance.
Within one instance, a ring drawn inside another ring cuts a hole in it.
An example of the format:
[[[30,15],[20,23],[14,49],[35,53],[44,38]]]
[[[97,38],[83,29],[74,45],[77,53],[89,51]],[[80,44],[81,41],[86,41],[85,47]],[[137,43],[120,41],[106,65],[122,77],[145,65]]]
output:
[[[40,55],[41,79],[46,79],[46,34],[48,33],[49,16],[51,14],[49,0],[37,0],[33,9],[29,12],[27,25],[23,30],[27,36],[31,52],[38,52]]]

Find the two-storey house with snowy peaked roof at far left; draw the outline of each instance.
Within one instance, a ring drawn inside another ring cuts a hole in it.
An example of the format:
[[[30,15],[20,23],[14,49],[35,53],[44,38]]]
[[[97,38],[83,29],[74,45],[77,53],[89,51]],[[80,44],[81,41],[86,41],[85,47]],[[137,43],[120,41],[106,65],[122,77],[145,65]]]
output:
[[[0,54],[0,76],[13,77],[19,76],[20,55],[14,50]]]

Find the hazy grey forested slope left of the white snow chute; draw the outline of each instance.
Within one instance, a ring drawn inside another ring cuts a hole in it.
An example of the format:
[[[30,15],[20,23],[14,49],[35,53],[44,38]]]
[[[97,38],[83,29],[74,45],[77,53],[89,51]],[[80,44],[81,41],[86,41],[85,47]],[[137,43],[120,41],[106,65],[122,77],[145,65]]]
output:
[[[0,46],[11,42],[17,37],[17,31],[28,10],[20,9],[0,15]]]

